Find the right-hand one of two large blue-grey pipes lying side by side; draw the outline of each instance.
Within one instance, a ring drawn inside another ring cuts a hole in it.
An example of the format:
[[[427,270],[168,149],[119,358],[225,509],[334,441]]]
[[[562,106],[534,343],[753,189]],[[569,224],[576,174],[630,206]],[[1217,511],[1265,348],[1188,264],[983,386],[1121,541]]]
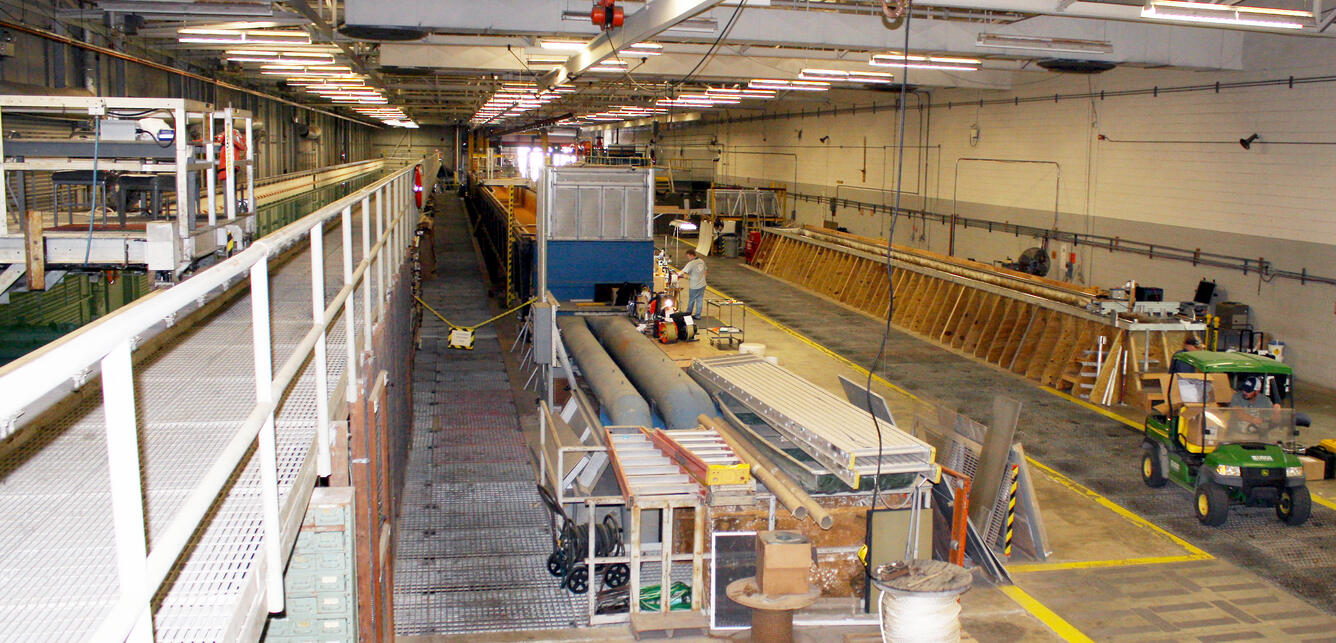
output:
[[[696,417],[701,414],[719,417],[705,389],[640,334],[631,319],[617,315],[591,317],[588,321],[608,354],[653,402],[669,429],[693,429],[699,426]]]

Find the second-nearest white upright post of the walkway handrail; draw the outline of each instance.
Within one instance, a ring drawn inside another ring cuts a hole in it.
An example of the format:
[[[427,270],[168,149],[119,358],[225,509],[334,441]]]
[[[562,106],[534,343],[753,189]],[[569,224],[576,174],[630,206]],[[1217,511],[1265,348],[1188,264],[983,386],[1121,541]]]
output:
[[[269,406],[259,429],[261,509],[265,528],[265,603],[270,614],[283,611],[283,553],[278,521],[278,445],[274,437],[274,356],[270,342],[269,258],[250,270],[251,337],[255,352],[255,402]]]

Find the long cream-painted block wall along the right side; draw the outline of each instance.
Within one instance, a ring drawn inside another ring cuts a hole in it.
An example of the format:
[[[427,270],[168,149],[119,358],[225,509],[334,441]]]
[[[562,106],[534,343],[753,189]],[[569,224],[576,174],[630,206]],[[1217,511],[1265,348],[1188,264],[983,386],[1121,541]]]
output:
[[[902,206],[908,209],[1265,258],[1277,269],[1336,277],[1329,197],[1336,192],[1336,144],[1289,144],[1336,142],[1336,114],[1329,110],[1336,83],[1304,82],[1328,75],[1336,56],[1320,43],[1249,39],[1246,72],[1034,74],[1018,76],[1010,92],[915,95],[899,170],[887,147],[896,143],[891,110],[712,123],[661,131],[657,140],[668,158],[692,150],[712,155],[720,182],[779,183],[823,195],[838,190],[840,198],[886,203],[903,184]],[[1293,87],[1213,88],[1216,82],[1291,75],[1299,79]],[[1205,90],[1176,91],[1188,86]],[[1113,96],[1129,90],[1148,94]],[[1014,102],[1101,91],[1104,99]],[[979,106],[981,99],[1002,104]],[[855,103],[872,100],[884,104],[894,96],[868,94]],[[915,110],[921,103],[933,107]],[[973,143],[971,128],[978,131]],[[1253,132],[1261,142],[1244,150],[1238,139]],[[635,138],[645,142],[648,132]],[[827,205],[798,202],[788,209],[800,223],[830,217]],[[884,215],[856,209],[840,209],[835,218],[856,234],[884,237],[888,229]],[[950,230],[902,218],[895,241],[946,253]],[[999,261],[1034,245],[1033,238],[957,229],[954,250]],[[1109,287],[1137,279],[1164,287],[1166,298],[1190,299],[1198,279],[1213,279],[1221,299],[1252,305],[1253,324],[1287,344],[1287,361],[1301,378],[1336,386],[1336,286],[1264,281],[1256,271],[1089,246],[1054,250],[1077,253],[1070,279],[1081,283]],[[1066,277],[1061,267],[1050,275]]]

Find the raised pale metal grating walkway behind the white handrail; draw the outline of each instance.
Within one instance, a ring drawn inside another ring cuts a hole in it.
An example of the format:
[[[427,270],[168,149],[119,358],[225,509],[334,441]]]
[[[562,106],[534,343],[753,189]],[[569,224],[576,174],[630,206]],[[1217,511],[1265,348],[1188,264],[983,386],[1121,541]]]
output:
[[[355,263],[362,254],[359,209],[354,218]],[[339,233],[327,233],[326,297],[342,285],[341,253]],[[310,329],[310,269],[305,250],[271,265],[274,364]],[[374,279],[369,283],[374,289]],[[255,401],[250,315],[250,295],[243,294],[135,369],[150,549]],[[326,394],[343,374],[343,330],[341,322],[329,336]],[[314,460],[307,459],[315,436],[314,382],[307,362],[275,416],[285,512],[293,511],[294,483],[302,479],[307,488],[314,481]],[[0,448],[0,640],[87,639],[119,596],[102,396],[96,384],[86,388],[83,401],[72,398],[61,414],[24,429],[23,442]],[[253,606],[238,604],[243,586],[254,582],[247,576],[262,541],[259,471],[248,457],[154,600],[156,640],[223,640],[242,616],[255,616]]]

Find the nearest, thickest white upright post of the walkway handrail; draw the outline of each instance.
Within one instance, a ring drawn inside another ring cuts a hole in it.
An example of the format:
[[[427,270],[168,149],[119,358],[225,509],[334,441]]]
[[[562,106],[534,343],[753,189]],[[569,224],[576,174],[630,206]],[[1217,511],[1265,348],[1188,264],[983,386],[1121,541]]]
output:
[[[144,492],[139,483],[139,426],[135,418],[135,373],[130,341],[102,358],[102,406],[107,422],[107,473],[111,519],[116,533],[116,571],[123,596],[146,596],[126,640],[154,640],[148,592],[148,547],[144,537]]]

